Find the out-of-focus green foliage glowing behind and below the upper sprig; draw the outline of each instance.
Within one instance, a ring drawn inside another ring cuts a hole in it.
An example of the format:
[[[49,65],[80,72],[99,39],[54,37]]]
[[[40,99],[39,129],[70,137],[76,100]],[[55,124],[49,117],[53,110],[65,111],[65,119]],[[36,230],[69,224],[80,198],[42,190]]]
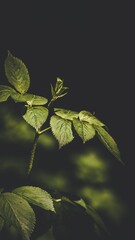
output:
[[[58,151],[53,136],[44,133],[39,138],[33,171],[26,177],[34,131],[21,116],[16,116],[15,110],[12,103],[11,107],[3,103],[0,108],[1,187],[11,190],[29,184],[50,192],[71,194],[71,197],[81,196],[97,209],[105,223],[122,224],[129,217],[129,208],[113,187],[112,165],[96,149],[88,149],[88,145],[81,154],[77,149],[70,152],[70,146],[68,151],[66,147]],[[14,239],[17,239],[15,234]],[[54,240],[51,231],[35,239]]]

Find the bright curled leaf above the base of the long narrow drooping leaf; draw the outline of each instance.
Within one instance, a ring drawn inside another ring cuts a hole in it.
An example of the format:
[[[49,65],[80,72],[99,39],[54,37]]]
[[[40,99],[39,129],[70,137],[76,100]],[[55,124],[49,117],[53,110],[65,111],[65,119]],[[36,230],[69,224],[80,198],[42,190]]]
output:
[[[97,125],[97,126],[105,126],[104,123],[102,123],[92,113],[90,113],[88,111],[81,111],[79,113],[79,119],[81,121],[86,121],[86,122],[89,122],[90,124],[94,124],[94,125]]]

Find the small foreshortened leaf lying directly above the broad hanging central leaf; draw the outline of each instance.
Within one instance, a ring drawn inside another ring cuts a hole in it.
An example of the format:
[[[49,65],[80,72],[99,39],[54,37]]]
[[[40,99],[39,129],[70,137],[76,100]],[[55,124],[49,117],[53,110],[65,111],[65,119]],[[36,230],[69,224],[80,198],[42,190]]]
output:
[[[54,108],[55,114],[64,119],[73,120],[74,118],[78,118],[78,113],[75,111],[62,109],[62,108]]]

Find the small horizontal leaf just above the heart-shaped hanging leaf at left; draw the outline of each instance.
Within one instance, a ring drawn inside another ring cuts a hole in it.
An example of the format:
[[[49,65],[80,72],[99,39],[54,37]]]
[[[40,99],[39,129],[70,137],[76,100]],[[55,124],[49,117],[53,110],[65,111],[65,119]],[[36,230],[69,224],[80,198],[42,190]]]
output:
[[[48,102],[48,99],[42,96],[37,96],[34,94],[29,94],[31,95],[31,100],[28,100],[27,103],[29,105],[44,105]]]

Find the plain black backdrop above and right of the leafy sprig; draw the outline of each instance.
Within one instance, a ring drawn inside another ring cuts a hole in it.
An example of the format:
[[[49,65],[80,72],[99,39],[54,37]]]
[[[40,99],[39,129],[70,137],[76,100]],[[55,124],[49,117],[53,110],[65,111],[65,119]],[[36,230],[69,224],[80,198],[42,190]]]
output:
[[[56,105],[96,112],[107,124],[126,164],[123,169],[116,163],[116,187],[134,211],[132,6],[78,1],[0,5],[0,81],[7,50],[28,67],[31,92],[49,98],[50,83],[64,79],[70,90]],[[127,235],[134,233],[134,219],[129,225]]]

